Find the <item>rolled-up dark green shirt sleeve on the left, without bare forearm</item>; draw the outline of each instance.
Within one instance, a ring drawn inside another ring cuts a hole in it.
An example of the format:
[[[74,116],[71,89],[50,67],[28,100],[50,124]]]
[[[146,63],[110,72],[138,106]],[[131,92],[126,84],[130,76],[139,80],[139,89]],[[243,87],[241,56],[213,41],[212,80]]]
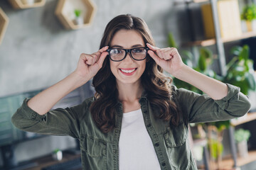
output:
[[[23,101],[11,118],[16,128],[43,135],[69,135],[78,138],[79,119],[72,108],[57,108],[45,115],[39,115],[28,107],[28,100],[26,98]]]

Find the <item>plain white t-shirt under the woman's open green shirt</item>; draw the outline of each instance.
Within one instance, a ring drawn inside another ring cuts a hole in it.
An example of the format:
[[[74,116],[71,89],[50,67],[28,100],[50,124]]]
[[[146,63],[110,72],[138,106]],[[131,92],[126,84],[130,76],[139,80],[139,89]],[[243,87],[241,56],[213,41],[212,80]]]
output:
[[[161,169],[141,109],[123,113],[119,138],[119,169]]]

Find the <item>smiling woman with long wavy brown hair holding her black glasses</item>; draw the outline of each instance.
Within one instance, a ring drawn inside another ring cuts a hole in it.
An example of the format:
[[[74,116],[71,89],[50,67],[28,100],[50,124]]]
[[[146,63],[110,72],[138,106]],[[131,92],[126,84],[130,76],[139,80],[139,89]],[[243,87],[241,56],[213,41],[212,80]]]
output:
[[[170,86],[162,69],[208,95]],[[94,97],[50,111],[92,77]],[[26,98],[12,122],[29,132],[78,138],[83,169],[197,169],[188,123],[237,118],[249,109],[238,87],[187,67],[175,48],[154,46],[142,19],[121,15],[107,24],[99,51],[83,53],[68,77]]]

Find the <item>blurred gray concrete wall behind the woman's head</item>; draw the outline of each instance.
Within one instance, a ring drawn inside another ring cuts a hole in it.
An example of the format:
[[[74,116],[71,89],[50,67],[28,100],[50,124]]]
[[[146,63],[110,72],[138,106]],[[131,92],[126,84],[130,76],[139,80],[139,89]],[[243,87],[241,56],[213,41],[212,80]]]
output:
[[[81,52],[96,52],[106,24],[122,13],[144,18],[156,40],[166,47],[171,30],[180,42],[187,30],[184,8],[169,0],[100,1],[89,28],[65,30],[55,16],[57,0],[39,8],[16,10],[8,1],[0,6],[9,17],[9,26],[0,45],[0,96],[41,89],[66,77],[76,67]],[[184,19],[185,17],[185,19]],[[182,24],[182,26],[181,26]]]

